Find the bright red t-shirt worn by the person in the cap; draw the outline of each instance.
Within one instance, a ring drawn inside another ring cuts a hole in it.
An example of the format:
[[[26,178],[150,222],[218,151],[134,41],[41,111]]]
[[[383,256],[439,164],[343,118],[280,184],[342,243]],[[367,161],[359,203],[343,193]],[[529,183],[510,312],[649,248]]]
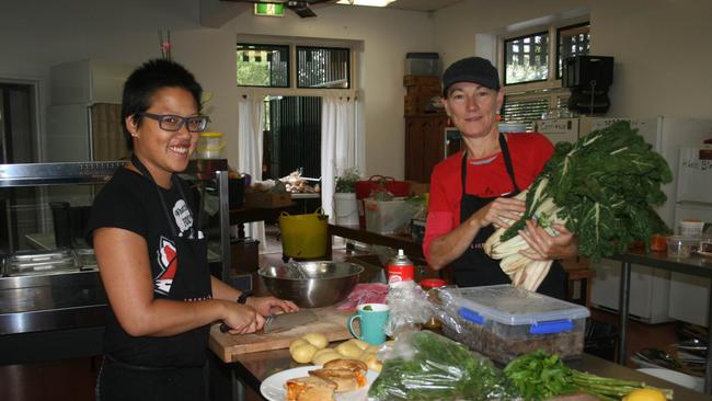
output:
[[[507,148],[519,190],[525,190],[539,175],[553,154],[553,145],[541,134],[507,134]],[[514,191],[504,165],[502,152],[490,162],[487,157],[468,160],[467,193],[480,197],[499,197]],[[429,260],[430,242],[460,226],[462,199],[462,151],[439,162],[430,175],[430,197],[423,253]]]

